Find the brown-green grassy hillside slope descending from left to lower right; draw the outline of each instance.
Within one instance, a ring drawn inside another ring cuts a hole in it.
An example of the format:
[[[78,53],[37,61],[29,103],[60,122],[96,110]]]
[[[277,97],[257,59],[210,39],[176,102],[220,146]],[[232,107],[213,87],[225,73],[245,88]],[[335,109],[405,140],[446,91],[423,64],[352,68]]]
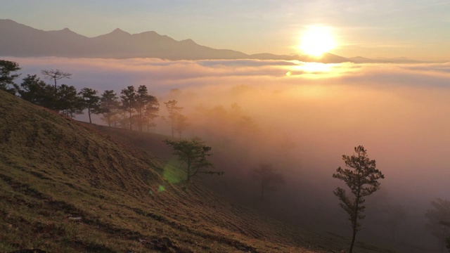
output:
[[[271,221],[199,184],[170,182],[179,176],[120,138],[0,91],[0,252],[338,252],[347,247],[338,236]]]

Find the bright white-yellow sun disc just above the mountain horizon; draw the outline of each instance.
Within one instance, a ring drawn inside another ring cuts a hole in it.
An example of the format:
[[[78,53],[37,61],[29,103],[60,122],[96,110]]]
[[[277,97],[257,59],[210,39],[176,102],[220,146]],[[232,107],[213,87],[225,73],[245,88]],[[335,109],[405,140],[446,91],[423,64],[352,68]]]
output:
[[[310,56],[320,57],[336,47],[336,41],[330,27],[311,26],[302,35],[300,50]]]

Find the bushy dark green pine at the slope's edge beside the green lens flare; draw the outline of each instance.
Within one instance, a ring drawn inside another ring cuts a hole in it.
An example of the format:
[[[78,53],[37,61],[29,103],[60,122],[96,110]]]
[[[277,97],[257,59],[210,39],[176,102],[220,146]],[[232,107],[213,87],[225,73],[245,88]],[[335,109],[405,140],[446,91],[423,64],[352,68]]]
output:
[[[181,163],[186,164],[186,181],[191,181],[191,178],[197,174],[224,174],[223,171],[208,171],[203,170],[212,167],[212,163],[207,160],[209,157],[211,147],[204,145],[198,138],[192,140],[170,141],[165,140],[169,146],[172,146],[174,155],[178,156]]]

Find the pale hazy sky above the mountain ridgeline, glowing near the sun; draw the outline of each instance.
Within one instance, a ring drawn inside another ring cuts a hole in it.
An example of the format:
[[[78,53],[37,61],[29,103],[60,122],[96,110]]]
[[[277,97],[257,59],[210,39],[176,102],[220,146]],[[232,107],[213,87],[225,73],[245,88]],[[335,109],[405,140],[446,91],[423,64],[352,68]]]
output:
[[[0,0],[0,18],[87,37],[120,28],[243,53],[302,54],[302,34],[330,27],[330,53],[450,60],[448,0]]]

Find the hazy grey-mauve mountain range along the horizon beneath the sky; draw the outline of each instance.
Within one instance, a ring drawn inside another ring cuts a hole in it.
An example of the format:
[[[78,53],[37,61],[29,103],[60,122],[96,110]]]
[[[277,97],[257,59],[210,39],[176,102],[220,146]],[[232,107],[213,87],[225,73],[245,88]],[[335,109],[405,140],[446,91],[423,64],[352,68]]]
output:
[[[161,58],[167,60],[258,59],[300,60],[319,63],[418,63],[406,58],[368,59],[345,58],[333,53],[314,56],[287,56],[271,53],[246,54],[229,49],[216,49],[196,44],[192,39],[176,41],[156,32],[129,34],[116,29],[97,37],[85,37],[65,28],[44,31],[19,24],[13,20],[0,20],[0,56],[67,58]]]

